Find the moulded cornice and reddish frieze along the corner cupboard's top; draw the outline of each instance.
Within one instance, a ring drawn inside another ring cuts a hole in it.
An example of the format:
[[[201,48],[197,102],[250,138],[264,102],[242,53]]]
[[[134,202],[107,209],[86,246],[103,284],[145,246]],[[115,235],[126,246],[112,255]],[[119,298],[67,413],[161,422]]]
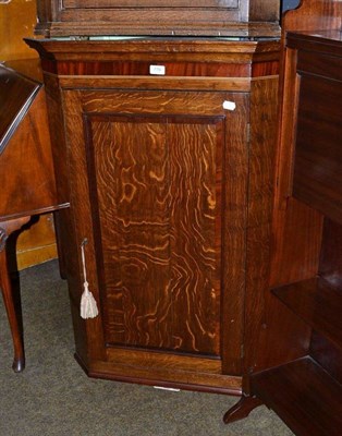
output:
[[[229,49],[220,39],[175,38],[172,44],[164,38],[133,38],[114,44],[89,40],[84,41],[86,50],[69,40],[68,51],[63,41],[27,43],[40,53],[45,71],[59,75],[147,76],[151,64],[163,65],[168,77],[258,77],[279,73],[277,39],[230,41]],[[49,52],[51,44],[53,53]]]

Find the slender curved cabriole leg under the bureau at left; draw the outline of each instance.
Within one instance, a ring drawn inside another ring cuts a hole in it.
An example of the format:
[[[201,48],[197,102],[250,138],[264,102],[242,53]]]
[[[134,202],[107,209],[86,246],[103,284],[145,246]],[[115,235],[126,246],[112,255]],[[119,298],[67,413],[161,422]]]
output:
[[[30,217],[22,217],[0,222],[0,287],[13,338],[14,360],[12,368],[15,373],[20,373],[24,370],[25,353],[23,332],[13,299],[13,289],[8,269],[7,240],[11,233],[15,230],[20,230],[29,219]]]

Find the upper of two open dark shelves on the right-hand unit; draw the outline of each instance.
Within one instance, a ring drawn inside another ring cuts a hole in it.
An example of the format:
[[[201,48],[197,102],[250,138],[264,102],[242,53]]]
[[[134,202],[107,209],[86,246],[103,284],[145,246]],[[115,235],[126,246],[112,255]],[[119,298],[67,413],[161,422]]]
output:
[[[272,290],[317,332],[342,348],[342,291],[317,277]]]

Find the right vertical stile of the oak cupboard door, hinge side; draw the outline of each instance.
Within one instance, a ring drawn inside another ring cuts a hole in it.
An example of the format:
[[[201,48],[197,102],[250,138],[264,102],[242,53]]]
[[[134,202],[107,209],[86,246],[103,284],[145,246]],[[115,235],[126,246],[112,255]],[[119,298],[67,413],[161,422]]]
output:
[[[249,94],[230,93],[222,168],[222,371],[241,374],[244,339]]]

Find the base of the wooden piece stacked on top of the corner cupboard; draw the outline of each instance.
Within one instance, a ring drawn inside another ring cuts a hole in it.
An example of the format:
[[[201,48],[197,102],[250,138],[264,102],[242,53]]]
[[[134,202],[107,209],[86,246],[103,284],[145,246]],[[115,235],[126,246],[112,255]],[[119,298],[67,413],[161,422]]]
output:
[[[48,36],[274,36],[279,0],[38,0],[36,32]]]

